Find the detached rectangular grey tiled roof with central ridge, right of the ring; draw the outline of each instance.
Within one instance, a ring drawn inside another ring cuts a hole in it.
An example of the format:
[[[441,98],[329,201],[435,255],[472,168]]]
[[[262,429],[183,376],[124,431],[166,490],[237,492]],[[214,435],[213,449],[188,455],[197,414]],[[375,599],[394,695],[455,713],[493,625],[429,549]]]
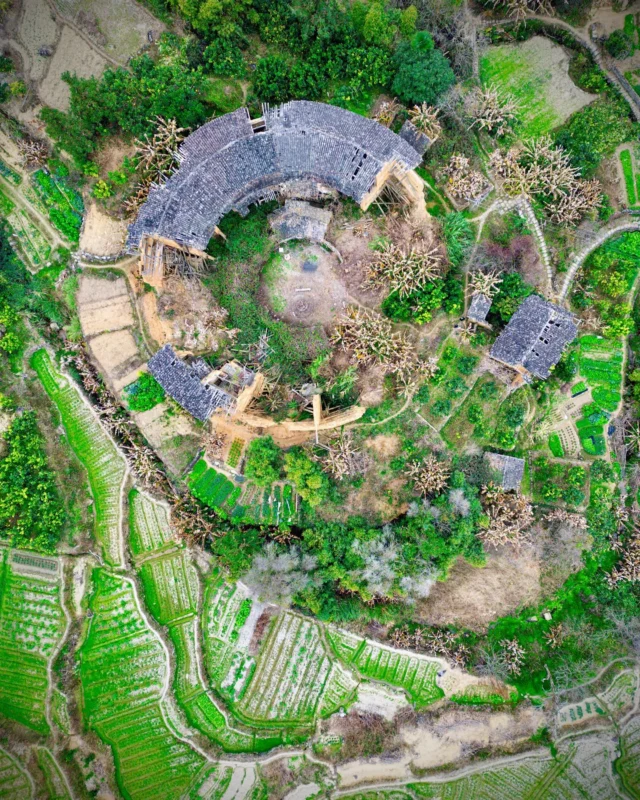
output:
[[[529,295],[491,348],[491,357],[518,371],[548,378],[577,333],[578,326],[569,311],[538,295]]]

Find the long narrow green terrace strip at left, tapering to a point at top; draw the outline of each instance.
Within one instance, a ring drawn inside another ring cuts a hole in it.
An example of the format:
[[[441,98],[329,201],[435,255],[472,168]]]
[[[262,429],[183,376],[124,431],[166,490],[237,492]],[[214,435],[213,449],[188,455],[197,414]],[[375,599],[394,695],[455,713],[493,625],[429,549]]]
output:
[[[47,394],[54,402],[74,453],[87,470],[95,509],[95,537],[104,560],[122,566],[122,484],[126,463],[84,401],[80,390],[63,375],[46,350],[31,358]]]

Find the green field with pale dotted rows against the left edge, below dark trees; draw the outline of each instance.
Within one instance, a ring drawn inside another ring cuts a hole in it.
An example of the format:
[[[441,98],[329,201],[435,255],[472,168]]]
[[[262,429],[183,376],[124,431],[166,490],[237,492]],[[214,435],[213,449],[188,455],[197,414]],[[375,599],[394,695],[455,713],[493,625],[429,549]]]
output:
[[[21,561],[54,569],[30,574],[34,568]],[[66,626],[60,593],[57,559],[0,549],[0,710],[42,734],[49,731],[47,667]]]

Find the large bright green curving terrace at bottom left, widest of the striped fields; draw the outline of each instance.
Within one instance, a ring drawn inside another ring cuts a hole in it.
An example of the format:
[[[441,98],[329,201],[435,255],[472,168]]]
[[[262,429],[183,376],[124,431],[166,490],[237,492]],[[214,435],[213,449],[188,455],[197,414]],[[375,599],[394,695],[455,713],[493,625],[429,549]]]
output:
[[[166,653],[131,583],[103,568],[92,581],[92,616],[80,649],[85,723],[111,745],[125,797],[173,800],[207,762],[167,724]]]

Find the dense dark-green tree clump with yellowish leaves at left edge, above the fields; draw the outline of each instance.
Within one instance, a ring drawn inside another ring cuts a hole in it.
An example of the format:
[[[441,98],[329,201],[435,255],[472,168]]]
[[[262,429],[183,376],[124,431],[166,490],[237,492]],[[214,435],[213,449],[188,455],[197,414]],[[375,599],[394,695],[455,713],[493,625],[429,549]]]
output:
[[[64,507],[35,414],[15,417],[0,458],[0,534],[13,547],[51,553],[62,533]]]

